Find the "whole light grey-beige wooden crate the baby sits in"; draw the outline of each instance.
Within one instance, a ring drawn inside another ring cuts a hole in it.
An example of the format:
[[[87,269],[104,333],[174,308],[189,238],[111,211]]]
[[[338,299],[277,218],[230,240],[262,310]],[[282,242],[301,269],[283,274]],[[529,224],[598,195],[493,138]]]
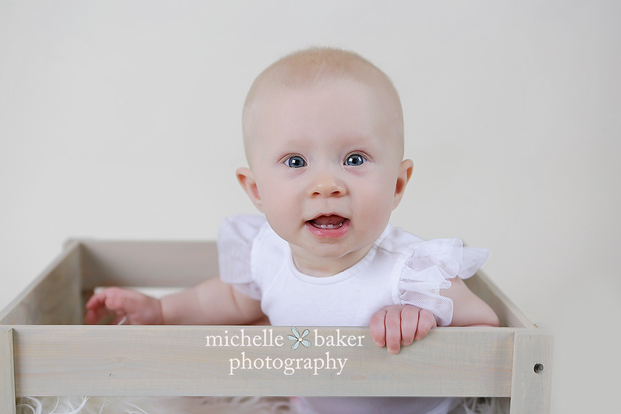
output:
[[[67,242],[0,313],[0,413],[34,395],[511,397],[513,414],[549,413],[553,337],[483,273],[466,282],[501,328],[435,328],[397,355],[374,346],[368,328],[297,326],[313,345],[293,351],[290,326],[83,325],[97,286],[189,287],[216,275],[215,242]],[[216,346],[217,337],[232,342]],[[320,359],[328,366],[313,370],[308,361]],[[288,360],[297,364],[290,375]]]

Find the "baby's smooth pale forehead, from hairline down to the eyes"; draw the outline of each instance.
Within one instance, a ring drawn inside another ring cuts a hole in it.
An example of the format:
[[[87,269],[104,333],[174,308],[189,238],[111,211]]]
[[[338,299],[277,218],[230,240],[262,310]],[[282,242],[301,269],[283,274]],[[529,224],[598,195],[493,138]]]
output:
[[[266,92],[246,136],[246,155],[308,155],[317,148],[330,148],[335,156],[351,150],[402,154],[403,139],[380,100],[356,81]]]

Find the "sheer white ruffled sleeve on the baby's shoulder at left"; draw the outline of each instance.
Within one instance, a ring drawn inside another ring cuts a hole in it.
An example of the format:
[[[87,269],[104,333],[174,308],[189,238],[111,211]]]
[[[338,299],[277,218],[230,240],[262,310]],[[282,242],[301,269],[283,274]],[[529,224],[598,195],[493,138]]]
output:
[[[253,279],[250,257],[253,242],[266,223],[262,216],[227,217],[218,230],[220,279],[253,299],[261,299],[261,288]]]

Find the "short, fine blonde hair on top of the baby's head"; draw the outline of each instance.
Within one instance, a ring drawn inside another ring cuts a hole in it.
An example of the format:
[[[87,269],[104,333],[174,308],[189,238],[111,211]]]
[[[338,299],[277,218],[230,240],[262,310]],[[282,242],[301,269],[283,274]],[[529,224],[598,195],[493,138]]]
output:
[[[272,63],[259,74],[250,86],[242,114],[244,148],[248,155],[248,139],[253,116],[259,104],[257,99],[266,90],[311,89],[329,82],[350,79],[373,89],[392,106],[393,133],[403,148],[403,110],[399,94],[391,79],[373,63],[354,52],[336,48],[310,48],[293,52]],[[378,87],[379,86],[379,87]],[[248,160],[250,161],[250,160]]]

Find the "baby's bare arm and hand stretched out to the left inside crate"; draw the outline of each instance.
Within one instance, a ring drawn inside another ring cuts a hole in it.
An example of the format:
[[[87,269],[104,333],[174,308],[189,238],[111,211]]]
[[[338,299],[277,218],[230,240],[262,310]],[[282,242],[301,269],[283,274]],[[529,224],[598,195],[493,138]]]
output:
[[[264,317],[259,301],[239,293],[219,277],[162,299],[107,288],[93,295],[86,308],[88,324],[110,316],[115,317],[112,323],[126,316],[129,324],[186,325],[250,324]]]

